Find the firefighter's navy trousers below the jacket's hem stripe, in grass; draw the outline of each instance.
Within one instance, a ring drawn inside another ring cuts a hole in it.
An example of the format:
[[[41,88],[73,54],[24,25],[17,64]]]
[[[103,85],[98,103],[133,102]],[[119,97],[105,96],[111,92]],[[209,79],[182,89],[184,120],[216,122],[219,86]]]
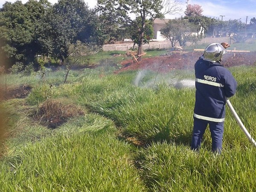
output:
[[[192,135],[191,149],[197,150],[201,146],[202,138],[209,124],[211,137],[212,137],[212,151],[221,153],[222,137],[224,133],[224,122],[211,122],[194,117],[194,128]]]

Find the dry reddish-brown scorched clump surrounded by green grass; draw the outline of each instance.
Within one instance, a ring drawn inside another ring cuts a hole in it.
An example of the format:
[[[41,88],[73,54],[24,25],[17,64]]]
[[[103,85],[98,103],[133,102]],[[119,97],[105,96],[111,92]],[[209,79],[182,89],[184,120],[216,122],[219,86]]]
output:
[[[84,115],[75,105],[63,105],[60,101],[47,100],[42,103],[33,118],[48,128],[57,128],[71,117]]]

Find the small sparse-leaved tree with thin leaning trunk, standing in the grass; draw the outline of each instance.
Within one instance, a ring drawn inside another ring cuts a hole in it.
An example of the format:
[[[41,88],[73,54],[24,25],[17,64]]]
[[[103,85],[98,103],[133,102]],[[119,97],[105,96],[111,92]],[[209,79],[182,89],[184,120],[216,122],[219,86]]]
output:
[[[92,44],[84,44],[77,41],[75,44],[68,45],[67,58],[64,60],[66,66],[66,74],[64,83],[67,81],[67,76],[73,66],[83,64],[84,59],[95,52],[98,48]]]

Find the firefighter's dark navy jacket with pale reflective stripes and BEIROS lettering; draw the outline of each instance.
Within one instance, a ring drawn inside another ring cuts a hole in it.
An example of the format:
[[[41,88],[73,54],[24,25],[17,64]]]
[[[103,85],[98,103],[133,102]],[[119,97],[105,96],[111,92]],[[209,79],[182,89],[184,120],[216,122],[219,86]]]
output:
[[[195,63],[194,116],[212,122],[224,122],[225,97],[236,93],[237,82],[229,70],[203,58],[200,57]]]

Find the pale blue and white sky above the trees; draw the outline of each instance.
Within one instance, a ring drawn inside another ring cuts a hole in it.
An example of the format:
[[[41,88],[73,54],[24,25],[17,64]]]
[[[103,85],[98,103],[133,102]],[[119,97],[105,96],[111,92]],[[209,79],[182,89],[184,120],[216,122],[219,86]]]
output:
[[[16,0],[0,0],[0,8],[6,2],[14,3]],[[27,0],[21,0],[26,3]],[[57,3],[58,0],[48,0],[50,3]],[[97,0],[84,0],[90,8],[96,6]],[[256,17],[256,0],[180,0],[183,11],[176,15],[166,15],[167,19],[184,16],[187,3],[198,4],[203,9],[202,15],[219,18],[222,20],[241,19],[243,23],[250,23],[250,19]],[[221,17],[220,15],[223,15]]]

